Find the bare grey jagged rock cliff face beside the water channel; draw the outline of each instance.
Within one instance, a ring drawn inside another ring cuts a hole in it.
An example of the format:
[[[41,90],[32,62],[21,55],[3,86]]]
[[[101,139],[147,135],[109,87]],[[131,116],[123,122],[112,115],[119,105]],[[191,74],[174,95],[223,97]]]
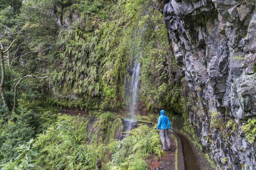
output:
[[[199,109],[189,115],[219,170],[255,170],[256,143],[242,125],[256,118],[255,1],[171,0],[171,45]]]

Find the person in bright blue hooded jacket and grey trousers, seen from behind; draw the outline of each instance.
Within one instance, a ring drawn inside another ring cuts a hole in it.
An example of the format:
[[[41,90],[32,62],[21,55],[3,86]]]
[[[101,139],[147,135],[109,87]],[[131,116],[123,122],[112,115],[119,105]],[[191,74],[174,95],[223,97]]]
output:
[[[158,118],[158,123],[157,123],[157,130],[160,132],[160,138],[162,141],[162,145],[163,147],[161,147],[162,150],[166,150],[165,147],[165,140],[167,142],[167,146],[168,146],[168,150],[171,149],[171,143],[170,140],[168,138],[168,126],[169,126],[169,131],[171,131],[171,123],[168,119],[167,116],[165,116],[165,111],[162,110],[160,111],[161,116],[159,116]]]

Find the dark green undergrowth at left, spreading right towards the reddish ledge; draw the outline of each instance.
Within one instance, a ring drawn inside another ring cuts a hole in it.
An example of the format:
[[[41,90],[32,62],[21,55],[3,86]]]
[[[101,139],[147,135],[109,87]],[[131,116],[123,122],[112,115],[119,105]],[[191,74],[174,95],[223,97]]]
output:
[[[41,116],[32,113],[25,95],[22,96],[15,113],[6,108],[0,110],[0,164],[17,157],[19,154],[13,148],[38,136],[57,120],[57,115],[50,112]]]

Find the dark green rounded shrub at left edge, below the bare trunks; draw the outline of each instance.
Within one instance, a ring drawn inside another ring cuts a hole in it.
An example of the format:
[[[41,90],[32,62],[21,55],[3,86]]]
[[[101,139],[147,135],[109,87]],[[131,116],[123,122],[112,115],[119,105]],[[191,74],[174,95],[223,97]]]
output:
[[[12,148],[33,137],[36,117],[29,111],[11,113],[6,108],[0,109],[0,163],[18,156]]]

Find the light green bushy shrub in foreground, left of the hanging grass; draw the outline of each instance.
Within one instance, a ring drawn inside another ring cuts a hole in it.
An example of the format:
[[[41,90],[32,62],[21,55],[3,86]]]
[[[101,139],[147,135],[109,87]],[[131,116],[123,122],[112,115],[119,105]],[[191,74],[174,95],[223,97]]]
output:
[[[76,124],[76,118],[61,116],[45,133],[36,138],[35,149],[39,152],[36,164],[45,170],[79,169],[94,166],[91,159],[85,161],[82,154],[91,154],[86,147],[88,122]],[[82,118],[81,118],[82,119]],[[84,120],[84,119],[83,119]],[[74,125],[77,125],[75,127]],[[81,130],[79,130],[81,129]],[[83,134],[83,137],[79,136]],[[80,163],[79,163],[80,162]]]

